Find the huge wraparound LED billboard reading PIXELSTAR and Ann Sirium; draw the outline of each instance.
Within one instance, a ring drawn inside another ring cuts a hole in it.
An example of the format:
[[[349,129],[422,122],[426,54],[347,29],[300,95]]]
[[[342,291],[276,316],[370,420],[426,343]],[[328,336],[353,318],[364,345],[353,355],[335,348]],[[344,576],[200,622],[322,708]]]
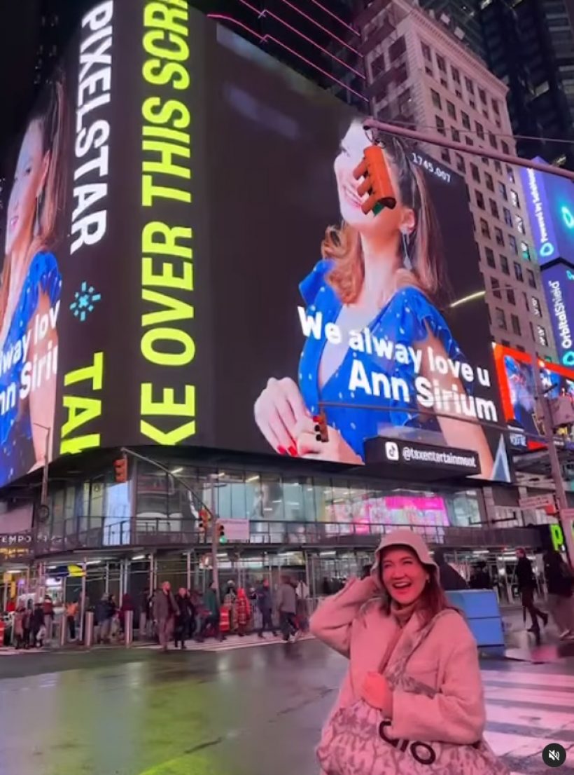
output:
[[[44,428],[347,464],[398,436],[507,480],[486,306],[449,306],[482,287],[465,183],[381,140],[398,204],[363,215],[349,108],[186,0],[96,5],[6,191],[0,484]]]

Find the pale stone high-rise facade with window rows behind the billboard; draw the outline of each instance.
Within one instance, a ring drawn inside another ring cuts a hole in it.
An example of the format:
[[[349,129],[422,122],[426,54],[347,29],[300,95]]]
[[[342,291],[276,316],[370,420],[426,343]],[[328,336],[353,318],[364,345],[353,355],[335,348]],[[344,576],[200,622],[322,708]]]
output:
[[[408,0],[374,2],[359,22],[373,115],[466,146],[516,152],[507,86],[443,22]],[[519,175],[486,157],[432,143],[424,150],[466,179],[493,339],[555,360]]]

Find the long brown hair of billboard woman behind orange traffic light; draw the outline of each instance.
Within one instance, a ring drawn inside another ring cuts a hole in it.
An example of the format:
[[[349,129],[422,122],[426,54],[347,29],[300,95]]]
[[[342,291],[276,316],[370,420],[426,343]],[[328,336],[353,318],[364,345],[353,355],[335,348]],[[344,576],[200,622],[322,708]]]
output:
[[[439,291],[445,290],[442,239],[424,175],[397,138],[380,134],[377,141],[383,145],[385,156],[395,170],[397,204],[414,211],[414,229],[406,235],[411,268],[404,267],[397,272],[397,288],[412,285],[436,301]],[[399,246],[399,250],[402,253],[403,247]],[[328,226],[321,252],[324,258],[334,261],[328,283],[343,304],[352,304],[363,288],[365,277],[359,232],[345,222],[341,226]]]

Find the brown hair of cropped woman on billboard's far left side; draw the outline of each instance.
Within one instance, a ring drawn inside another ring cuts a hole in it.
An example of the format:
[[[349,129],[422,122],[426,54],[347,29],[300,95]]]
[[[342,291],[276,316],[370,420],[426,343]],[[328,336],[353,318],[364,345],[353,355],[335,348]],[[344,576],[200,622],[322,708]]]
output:
[[[50,153],[50,162],[43,189],[36,201],[36,215],[33,233],[30,235],[28,257],[40,250],[49,250],[57,241],[59,216],[64,209],[65,172],[63,157],[65,153],[66,116],[64,76],[54,77],[33,108],[26,124],[26,131],[37,123],[42,137],[42,156]],[[36,229],[37,226],[37,229]],[[2,277],[0,277],[0,321],[2,321],[8,302],[11,261],[4,257]]]

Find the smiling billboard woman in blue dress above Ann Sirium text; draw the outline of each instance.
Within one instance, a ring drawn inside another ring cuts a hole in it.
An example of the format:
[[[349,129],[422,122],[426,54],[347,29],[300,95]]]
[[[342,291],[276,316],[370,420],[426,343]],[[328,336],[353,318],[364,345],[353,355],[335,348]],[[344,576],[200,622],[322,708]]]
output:
[[[456,370],[439,374],[429,366],[439,356],[459,367],[466,359],[433,303],[446,281],[424,175],[396,139],[386,138],[397,205],[365,215],[353,171],[366,144],[361,122],[352,122],[335,158],[342,225],[327,229],[323,259],[300,286],[308,336],[298,384],[289,377],[270,379],[256,401],[256,422],[279,453],[341,463],[363,463],[365,440],[385,435],[385,429],[389,436],[403,429],[400,435],[413,439],[414,430],[406,429],[417,429],[419,438],[431,432],[447,446],[475,450],[482,476],[490,478],[493,456],[481,425],[457,418],[453,408],[466,398],[466,388]],[[375,371],[382,375],[378,390],[355,389]],[[431,384],[430,394],[439,391],[452,400],[436,414],[421,412],[415,384]],[[327,443],[314,432],[320,407],[328,420]],[[469,412],[458,414],[469,418]]]

